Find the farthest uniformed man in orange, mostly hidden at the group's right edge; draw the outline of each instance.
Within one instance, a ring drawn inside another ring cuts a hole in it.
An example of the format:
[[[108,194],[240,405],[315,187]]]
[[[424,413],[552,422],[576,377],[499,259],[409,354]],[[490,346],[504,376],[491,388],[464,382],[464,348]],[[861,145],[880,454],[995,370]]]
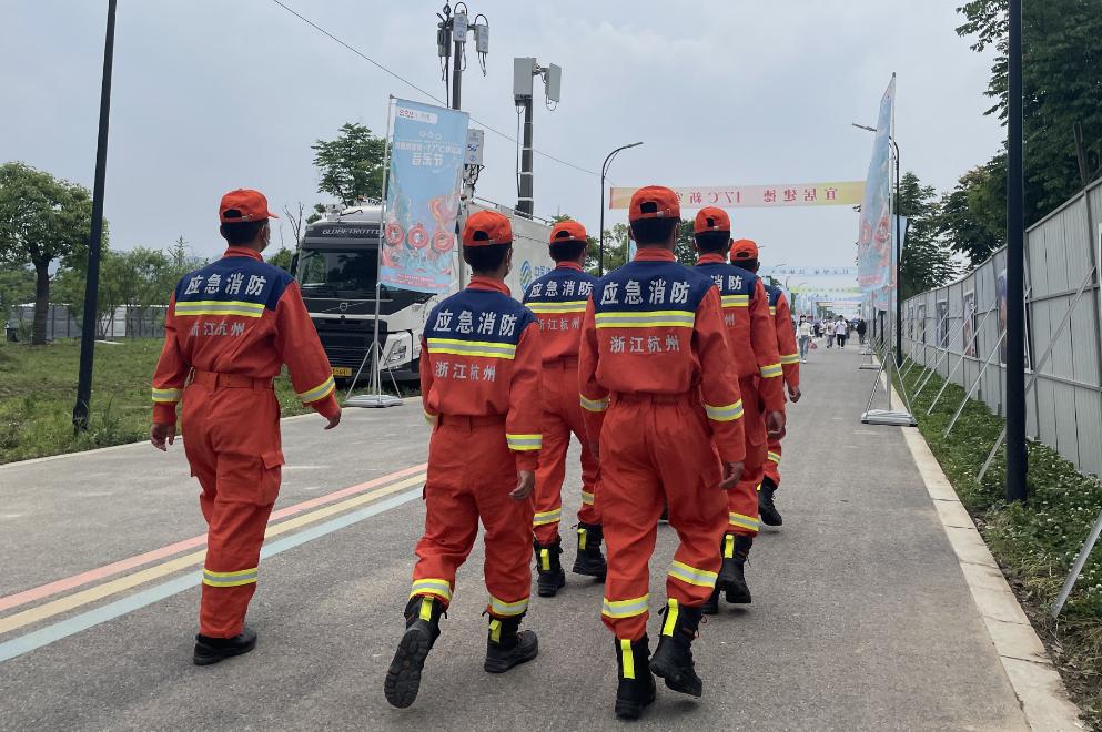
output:
[[[760,266],[757,244],[750,240],[739,240],[735,242],[735,250],[731,262],[756,273]],[[800,400],[800,349],[796,343],[796,331],[792,328],[792,312],[780,287],[766,285],[766,293],[769,295],[769,314],[772,316],[774,329],[777,334],[777,347],[780,352],[785,384],[788,387],[788,398],[795,404]],[[767,526],[780,526],[783,522],[774,504],[774,494],[780,486],[780,440],[783,437],[783,430],[769,436],[765,477],[758,494],[758,510],[762,522]]]

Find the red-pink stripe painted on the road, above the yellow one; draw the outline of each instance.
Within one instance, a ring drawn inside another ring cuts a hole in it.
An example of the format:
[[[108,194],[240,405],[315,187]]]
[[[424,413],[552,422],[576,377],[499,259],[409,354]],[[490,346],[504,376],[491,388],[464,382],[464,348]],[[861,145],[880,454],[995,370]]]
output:
[[[309,416],[309,415],[306,415]],[[363,492],[376,486],[382,486],[391,480],[396,480],[397,478],[404,478],[416,472],[423,472],[428,467],[427,464],[423,462],[421,465],[415,465],[408,468],[403,468],[395,472],[382,476],[380,478],[373,478],[366,482],[361,482],[355,486],[350,486],[347,488],[342,488],[335,490],[331,494],[324,496],[319,496],[317,498],[311,498],[310,500],[295,504],[293,506],[287,506],[286,508],[281,508],[274,511],[269,519],[269,521],[277,521],[280,519],[286,518],[287,516],[294,516],[295,514],[302,514],[305,510],[314,508],[316,506],[324,506],[325,504],[331,504],[333,501],[340,500],[346,496],[352,496],[358,492]],[[141,567],[142,565],[148,565],[158,559],[164,559],[165,557],[172,557],[181,551],[186,551],[188,549],[194,549],[195,547],[202,547],[206,543],[206,535],[201,533],[196,537],[190,539],[184,539],[183,541],[176,541],[175,543],[170,543],[160,549],[153,549],[152,551],[146,551],[141,555],[135,555],[128,559],[121,559],[117,562],[111,562],[110,565],[104,565],[103,567],[98,567],[95,569],[90,569],[87,572],[81,572],[79,575],[73,575],[72,577],[67,577],[53,582],[48,582],[46,584],[40,584],[39,587],[31,588],[29,590],[23,590],[21,592],[16,592],[14,594],[9,594],[7,597],[0,598],[0,612],[4,610],[10,610],[11,608],[18,608],[21,604],[27,604],[28,602],[34,602],[37,600],[42,600],[48,597],[58,594],[59,592],[64,592],[65,590],[71,590],[89,582],[94,582],[97,580],[107,579],[108,577],[113,577],[114,575],[120,575],[129,569],[135,567]]]

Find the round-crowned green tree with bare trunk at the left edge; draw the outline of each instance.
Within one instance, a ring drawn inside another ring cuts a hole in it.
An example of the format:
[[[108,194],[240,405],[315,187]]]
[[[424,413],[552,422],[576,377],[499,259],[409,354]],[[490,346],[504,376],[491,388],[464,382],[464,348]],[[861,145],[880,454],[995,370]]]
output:
[[[0,165],[0,265],[34,268],[31,343],[46,343],[50,265],[84,256],[92,218],[88,189],[21,162]],[[103,246],[107,246],[107,222]]]

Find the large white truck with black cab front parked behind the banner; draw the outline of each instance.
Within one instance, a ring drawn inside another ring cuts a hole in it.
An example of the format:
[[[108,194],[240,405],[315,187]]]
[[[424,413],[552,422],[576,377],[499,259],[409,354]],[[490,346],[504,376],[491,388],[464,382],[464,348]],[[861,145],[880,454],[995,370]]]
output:
[[[513,222],[513,270],[506,283],[513,296],[520,299],[528,284],[554,266],[547,253],[552,222],[525,218],[512,209],[487,201],[467,204],[468,214],[479,210],[499,211]],[[342,384],[355,376],[361,366],[364,366],[362,382],[371,369],[365,358],[375,334],[381,216],[378,205],[330,212],[321,221],[306,225],[292,265],[333,375]],[[466,286],[471,277],[458,253],[453,272],[452,286],[443,295],[385,285],[380,288],[382,364],[395,380],[418,379],[421,335],[428,312],[437,302]]]

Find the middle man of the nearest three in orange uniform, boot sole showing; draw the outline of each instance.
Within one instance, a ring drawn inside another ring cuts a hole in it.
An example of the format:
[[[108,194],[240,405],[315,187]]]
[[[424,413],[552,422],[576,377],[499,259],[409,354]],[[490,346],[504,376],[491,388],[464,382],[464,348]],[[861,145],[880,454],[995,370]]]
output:
[[[538,653],[520,631],[532,586],[532,491],[542,445],[539,326],[509,296],[513,228],[479,211],[463,228],[466,289],[432,309],[421,357],[421,398],[433,425],[425,484],[425,535],[417,542],[406,631],[386,673],[394,706],[417,697],[455,571],[486,529],[489,631],[483,668],[503,673]]]

